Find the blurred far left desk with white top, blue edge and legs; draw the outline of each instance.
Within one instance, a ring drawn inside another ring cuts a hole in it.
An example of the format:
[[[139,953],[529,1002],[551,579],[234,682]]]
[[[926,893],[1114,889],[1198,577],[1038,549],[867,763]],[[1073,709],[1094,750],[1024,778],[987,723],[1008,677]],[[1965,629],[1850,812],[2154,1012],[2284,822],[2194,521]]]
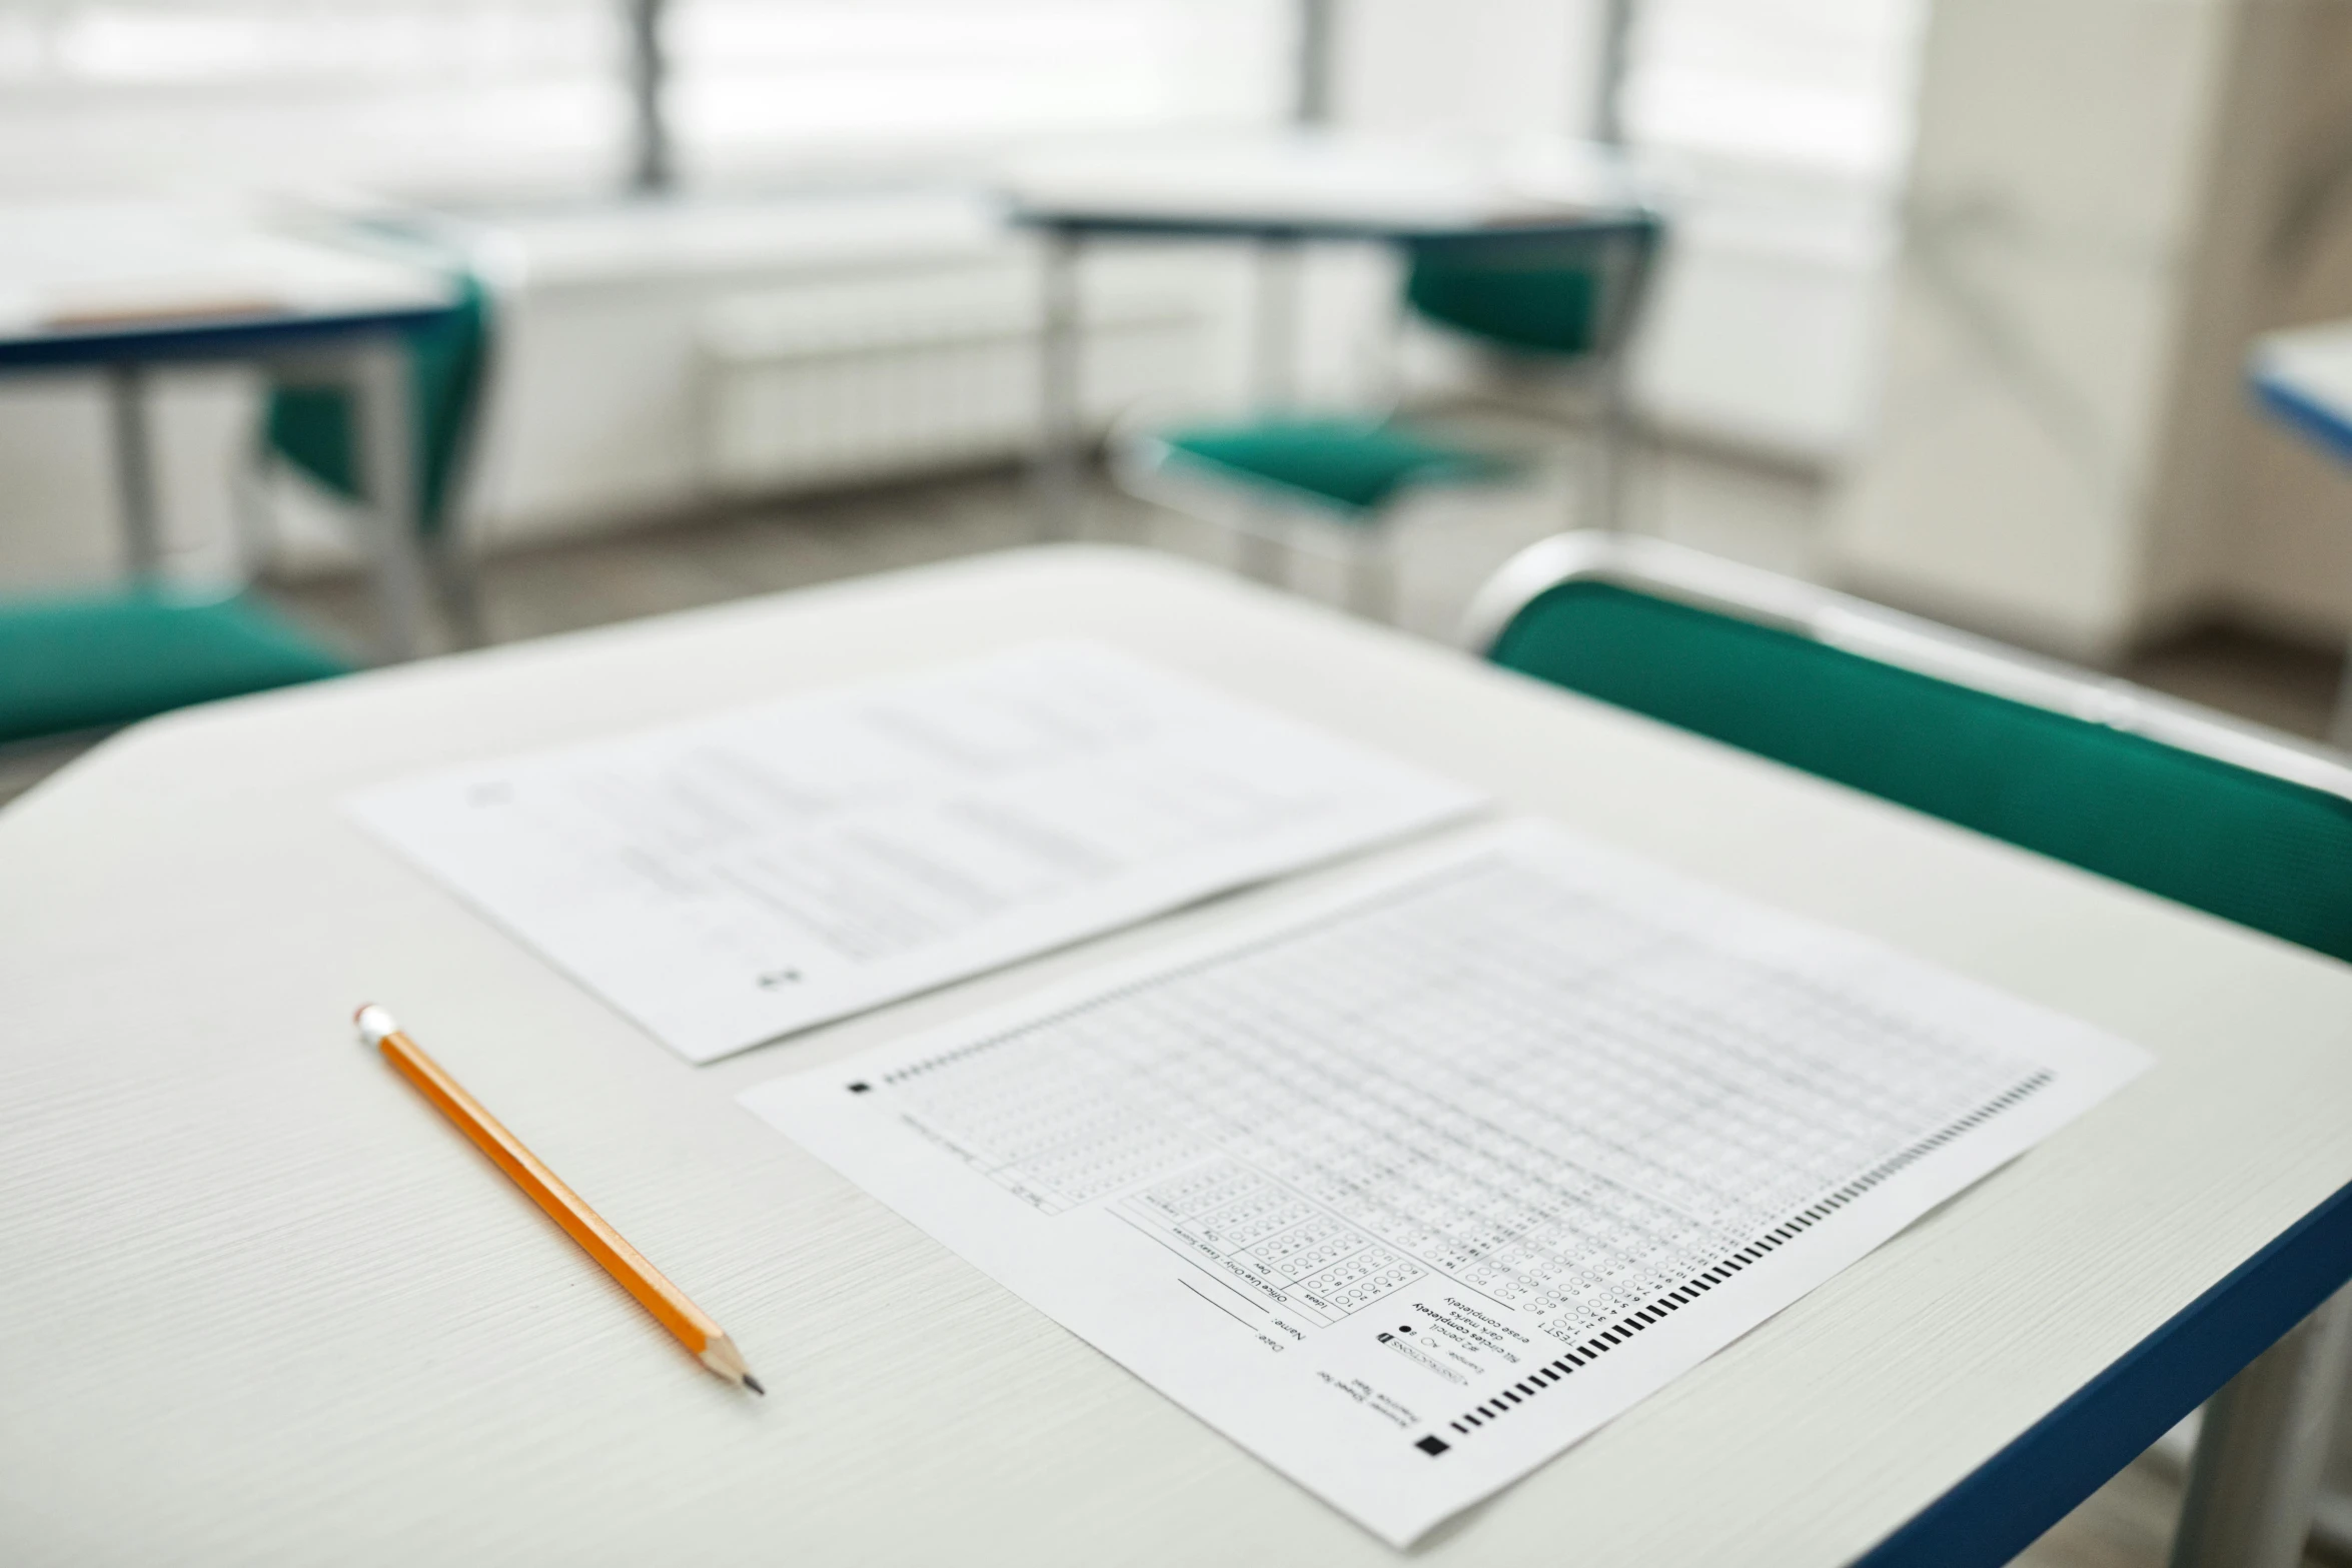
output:
[[[350,390],[388,658],[416,651],[423,585],[405,334],[449,303],[449,282],[416,266],[275,233],[233,209],[0,209],[0,374],[106,374],[132,576],[162,569],[146,418],[153,367],[235,362]]]

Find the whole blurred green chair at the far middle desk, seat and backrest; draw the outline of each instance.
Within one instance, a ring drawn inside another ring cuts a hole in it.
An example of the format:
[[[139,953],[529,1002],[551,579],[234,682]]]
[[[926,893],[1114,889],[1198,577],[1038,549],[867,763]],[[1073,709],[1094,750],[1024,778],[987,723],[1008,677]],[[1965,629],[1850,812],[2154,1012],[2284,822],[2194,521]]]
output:
[[[1496,355],[1505,371],[1583,371],[1599,390],[1590,508],[1616,527],[1625,444],[1623,350],[1658,249],[1656,221],[1592,235],[1425,240],[1411,247],[1414,317]],[[1301,534],[1343,541],[1359,609],[1395,592],[1388,522],[1414,491],[1491,484],[1510,456],[1388,414],[1272,411],[1235,423],[1141,430],[1112,442],[1122,482],[1282,550]],[[1319,529],[1315,524],[1322,524]]]

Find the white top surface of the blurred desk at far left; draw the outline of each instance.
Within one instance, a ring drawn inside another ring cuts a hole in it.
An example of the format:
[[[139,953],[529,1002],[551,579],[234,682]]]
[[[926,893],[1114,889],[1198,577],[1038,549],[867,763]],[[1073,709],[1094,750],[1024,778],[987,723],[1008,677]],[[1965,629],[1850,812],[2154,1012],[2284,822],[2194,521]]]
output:
[[[228,205],[0,207],[0,336],[256,310],[360,315],[447,299],[449,284],[430,270],[270,228]]]

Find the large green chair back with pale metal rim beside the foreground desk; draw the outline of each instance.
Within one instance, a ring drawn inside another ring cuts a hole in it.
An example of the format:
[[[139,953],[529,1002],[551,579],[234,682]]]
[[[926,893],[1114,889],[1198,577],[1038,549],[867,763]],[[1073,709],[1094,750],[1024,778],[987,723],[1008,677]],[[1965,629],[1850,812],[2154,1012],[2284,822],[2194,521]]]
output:
[[[1494,663],[2352,959],[2352,766],[2067,665],[1646,538],[1486,585]]]

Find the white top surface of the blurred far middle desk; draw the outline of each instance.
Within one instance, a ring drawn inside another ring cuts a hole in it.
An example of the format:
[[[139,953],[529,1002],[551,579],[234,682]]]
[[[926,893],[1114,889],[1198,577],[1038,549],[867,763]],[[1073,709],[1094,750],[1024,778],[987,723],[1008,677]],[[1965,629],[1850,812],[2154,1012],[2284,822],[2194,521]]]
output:
[[[1642,212],[1625,162],[1585,141],[1287,132],[1110,146],[1016,162],[1033,219],[1454,230]]]

